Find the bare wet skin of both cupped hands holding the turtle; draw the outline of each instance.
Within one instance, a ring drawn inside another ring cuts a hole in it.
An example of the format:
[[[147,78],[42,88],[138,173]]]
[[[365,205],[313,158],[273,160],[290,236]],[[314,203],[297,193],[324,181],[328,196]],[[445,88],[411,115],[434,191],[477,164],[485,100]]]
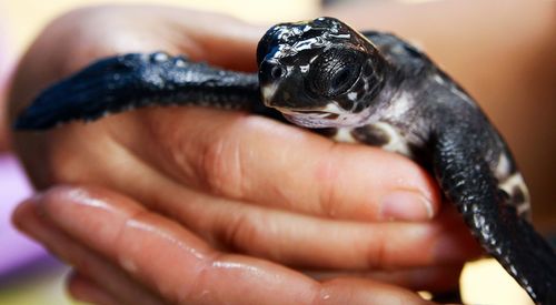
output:
[[[113,53],[165,50],[254,71],[264,31],[179,9],[71,12],[17,68],[10,118],[49,83]],[[247,113],[142,109],[18,132],[13,144],[44,193],[14,222],[73,265],[78,298],[420,303],[408,289],[454,288],[461,264],[479,253],[417,164]],[[47,191],[56,184],[72,186]],[[187,272],[191,255],[203,272]],[[187,281],[203,285],[183,292]]]

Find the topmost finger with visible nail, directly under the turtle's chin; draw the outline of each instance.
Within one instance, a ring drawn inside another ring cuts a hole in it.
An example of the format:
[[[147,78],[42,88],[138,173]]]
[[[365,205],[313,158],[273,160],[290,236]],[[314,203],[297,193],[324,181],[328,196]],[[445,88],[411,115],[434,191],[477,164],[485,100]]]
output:
[[[423,221],[439,210],[438,190],[428,174],[383,150],[335,144],[294,126],[240,113],[156,109],[142,114],[146,121],[133,124],[142,128],[122,136],[118,125],[111,133],[138,157],[137,176],[161,171],[202,192],[335,218]],[[178,121],[180,128],[176,128]],[[153,142],[145,145],[146,139]],[[127,181],[120,174],[119,180]],[[150,202],[152,189],[159,192],[168,183],[161,179],[156,184],[139,184],[126,187],[133,187],[135,194]]]

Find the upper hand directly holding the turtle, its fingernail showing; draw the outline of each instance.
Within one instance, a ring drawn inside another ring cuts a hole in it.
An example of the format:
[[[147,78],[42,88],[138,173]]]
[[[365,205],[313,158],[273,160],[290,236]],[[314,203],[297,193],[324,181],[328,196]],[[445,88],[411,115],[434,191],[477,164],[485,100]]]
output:
[[[262,32],[177,9],[70,13],[22,60],[11,118],[47,84],[115,52],[166,50],[252,70]],[[459,218],[449,212],[436,217],[438,190],[413,162],[265,118],[143,109],[46,133],[16,133],[14,140],[40,189],[102,185],[183,225],[216,250],[311,270],[318,278],[379,277],[411,289],[449,289],[463,262],[478,253]],[[88,236],[97,233],[85,224],[80,228]]]

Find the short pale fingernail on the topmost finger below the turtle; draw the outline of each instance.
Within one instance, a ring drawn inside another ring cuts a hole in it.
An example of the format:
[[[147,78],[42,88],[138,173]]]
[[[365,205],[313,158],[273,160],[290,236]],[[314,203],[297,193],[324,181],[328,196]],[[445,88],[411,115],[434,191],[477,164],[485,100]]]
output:
[[[389,221],[426,221],[433,218],[433,203],[411,191],[396,191],[383,199],[381,216]]]

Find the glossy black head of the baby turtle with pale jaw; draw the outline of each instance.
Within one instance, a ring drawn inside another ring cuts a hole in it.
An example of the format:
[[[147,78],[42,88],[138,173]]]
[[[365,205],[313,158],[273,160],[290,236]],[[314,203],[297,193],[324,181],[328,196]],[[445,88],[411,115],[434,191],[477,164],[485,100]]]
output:
[[[387,72],[373,43],[326,17],[274,26],[259,42],[257,62],[265,104],[307,128],[357,123]]]

